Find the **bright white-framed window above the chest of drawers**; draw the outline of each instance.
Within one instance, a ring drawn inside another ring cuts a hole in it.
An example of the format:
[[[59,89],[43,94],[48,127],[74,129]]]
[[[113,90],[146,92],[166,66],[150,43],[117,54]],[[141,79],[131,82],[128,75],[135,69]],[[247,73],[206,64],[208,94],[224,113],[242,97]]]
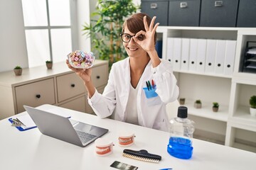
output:
[[[22,0],[28,66],[65,61],[77,48],[73,0]],[[72,15],[71,15],[72,13]]]

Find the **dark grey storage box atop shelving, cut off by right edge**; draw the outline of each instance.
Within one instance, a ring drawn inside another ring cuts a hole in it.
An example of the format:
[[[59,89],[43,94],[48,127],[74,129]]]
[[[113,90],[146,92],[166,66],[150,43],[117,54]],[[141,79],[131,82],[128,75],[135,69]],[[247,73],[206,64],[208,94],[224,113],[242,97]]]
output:
[[[256,27],[256,0],[240,1],[237,27]]]

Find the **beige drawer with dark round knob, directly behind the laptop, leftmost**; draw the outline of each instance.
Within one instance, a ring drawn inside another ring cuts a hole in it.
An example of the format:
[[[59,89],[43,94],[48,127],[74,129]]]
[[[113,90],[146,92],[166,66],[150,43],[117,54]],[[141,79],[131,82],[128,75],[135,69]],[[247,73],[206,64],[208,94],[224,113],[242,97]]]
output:
[[[15,88],[17,113],[25,111],[23,105],[32,107],[55,104],[54,81],[46,79]]]

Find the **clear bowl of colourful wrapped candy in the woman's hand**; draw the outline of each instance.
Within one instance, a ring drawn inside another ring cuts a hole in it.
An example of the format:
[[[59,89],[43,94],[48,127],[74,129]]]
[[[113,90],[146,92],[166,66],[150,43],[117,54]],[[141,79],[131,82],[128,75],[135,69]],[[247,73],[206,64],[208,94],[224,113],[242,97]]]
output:
[[[95,55],[93,52],[83,52],[76,50],[68,54],[69,64],[76,69],[89,69],[93,66]]]

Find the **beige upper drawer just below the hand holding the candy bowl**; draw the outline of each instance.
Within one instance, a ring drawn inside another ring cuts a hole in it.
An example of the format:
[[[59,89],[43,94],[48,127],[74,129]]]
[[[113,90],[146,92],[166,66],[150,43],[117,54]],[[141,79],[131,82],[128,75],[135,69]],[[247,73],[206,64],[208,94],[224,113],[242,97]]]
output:
[[[75,72],[59,76],[57,79],[58,102],[85,93],[85,85]]]

